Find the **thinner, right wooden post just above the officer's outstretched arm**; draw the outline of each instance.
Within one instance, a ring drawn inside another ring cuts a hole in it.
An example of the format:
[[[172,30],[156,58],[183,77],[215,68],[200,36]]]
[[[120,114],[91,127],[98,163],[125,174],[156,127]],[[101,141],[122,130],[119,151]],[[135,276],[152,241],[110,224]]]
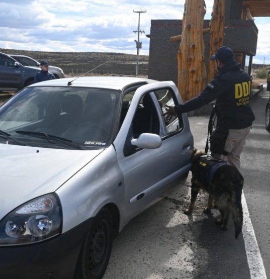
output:
[[[224,15],[225,15],[225,0],[215,0],[212,12],[212,18],[209,24],[210,27],[210,56],[216,54],[218,49],[223,46],[224,37]],[[215,74],[215,61],[209,59],[208,67],[208,81],[210,81]]]

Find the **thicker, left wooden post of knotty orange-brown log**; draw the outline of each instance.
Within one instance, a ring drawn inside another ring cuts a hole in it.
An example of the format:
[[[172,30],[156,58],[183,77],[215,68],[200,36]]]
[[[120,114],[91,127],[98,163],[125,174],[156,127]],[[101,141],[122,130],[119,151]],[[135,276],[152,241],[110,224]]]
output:
[[[177,53],[178,90],[184,102],[197,97],[206,83],[203,26],[204,0],[186,0],[183,32]]]

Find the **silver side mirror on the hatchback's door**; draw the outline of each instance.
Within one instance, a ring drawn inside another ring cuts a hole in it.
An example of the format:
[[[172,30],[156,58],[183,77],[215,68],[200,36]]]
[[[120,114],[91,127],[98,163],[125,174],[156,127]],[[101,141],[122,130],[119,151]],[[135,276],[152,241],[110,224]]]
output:
[[[137,139],[132,139],[131,144],[139,148],[155,149],[161,146],[162,140],[159,135],[143,133]]]

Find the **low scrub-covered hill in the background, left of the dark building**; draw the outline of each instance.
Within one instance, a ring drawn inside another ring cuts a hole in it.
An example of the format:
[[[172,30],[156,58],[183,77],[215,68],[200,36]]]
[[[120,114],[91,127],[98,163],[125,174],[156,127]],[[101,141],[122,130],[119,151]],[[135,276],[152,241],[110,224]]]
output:
[[[37,61],[47,60],[60,67],[66,75],[80,75],[91,71],[93,74],[135,75],[137,55],[111,52],[45,52],[0,48],[7,54],[23,54]],[[89,73],[90,74],[90,73]],[[139,55],[139,75],[148,76],[148,56]]]

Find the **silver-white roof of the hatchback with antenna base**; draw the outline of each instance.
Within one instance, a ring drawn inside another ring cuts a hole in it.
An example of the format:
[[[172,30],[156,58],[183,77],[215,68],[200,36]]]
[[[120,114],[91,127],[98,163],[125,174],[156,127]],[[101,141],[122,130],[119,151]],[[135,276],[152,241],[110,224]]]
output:
[[[157,80],[129,77],[129,76],[82,76],[82,77],[66,77],[34,83],[30,86],[74,86],[74,87],[95,87],[110,88],[122,90],[127,85],[136,83],[151,83]],[[70,85],[68,83],[71,82]]]

